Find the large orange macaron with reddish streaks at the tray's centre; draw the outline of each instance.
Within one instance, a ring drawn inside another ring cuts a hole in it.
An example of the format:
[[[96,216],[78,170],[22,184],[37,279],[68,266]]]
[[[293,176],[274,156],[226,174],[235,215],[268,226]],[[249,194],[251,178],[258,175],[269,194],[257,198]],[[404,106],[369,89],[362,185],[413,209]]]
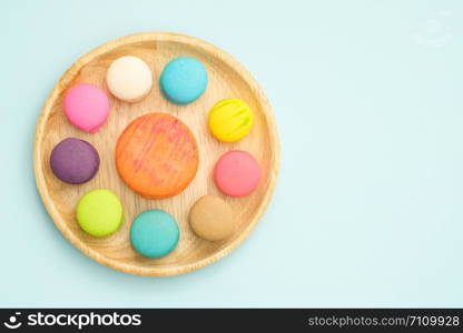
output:
[[[188,127],[167,113],[134,120],[116,145],[116,167],[135,192],[164,199],[185,190],[198,169],[198,145]]]

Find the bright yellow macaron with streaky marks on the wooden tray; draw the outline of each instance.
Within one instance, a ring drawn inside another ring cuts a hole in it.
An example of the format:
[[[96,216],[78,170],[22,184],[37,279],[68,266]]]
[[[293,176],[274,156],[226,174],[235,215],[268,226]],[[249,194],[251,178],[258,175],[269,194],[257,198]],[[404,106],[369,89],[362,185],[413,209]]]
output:
[[[246,102],[226,99],[216,103],[209,112],[209,129],[217,140],[236,142],[245,138],[254,124],[254,114]]]

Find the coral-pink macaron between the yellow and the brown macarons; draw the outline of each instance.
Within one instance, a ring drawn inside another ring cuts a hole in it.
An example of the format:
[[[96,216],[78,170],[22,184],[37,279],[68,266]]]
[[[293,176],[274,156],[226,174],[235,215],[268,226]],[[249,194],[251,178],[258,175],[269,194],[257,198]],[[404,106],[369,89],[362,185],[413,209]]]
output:
[[[257,188],[260,176],[262,170],[256,159],[242,150],[225,153],[214,170],[216,185],[230,196],[250,194]]]

